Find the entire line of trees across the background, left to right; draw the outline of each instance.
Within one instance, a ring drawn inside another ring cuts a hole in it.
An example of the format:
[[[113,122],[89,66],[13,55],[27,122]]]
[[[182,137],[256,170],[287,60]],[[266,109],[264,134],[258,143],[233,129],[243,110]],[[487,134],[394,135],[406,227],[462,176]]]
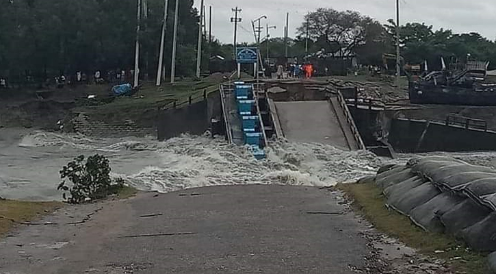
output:
[[[44,79],[77,71],[132,69],[136,28],[135,0],[0,0],[0,77],[10,82],[26,76]],[[170,1],[174,2],[174,1]],[[155,77],[164,1],[147,0],[142,20],[141,74]],[[170,71],[174,3],[168,7],[165,62]],[[177,75],[192,76],[196,67],[198,10],[193,0],[181,0],[177,50]],[[325,53],[330,58],[356,56],[361,64],[382,64],[384,53],[394,53],[396,25],[382,25],[374,18],[354,11],[320,8],[304,16],[298,35],[289,39],[289,55]],[[308,37],[308,39],[307,39]],[[205,38],[204,38],[205,39]],[[308,45],[308,52],[306,47]],[[424,23],[400,26],[400,46],[405,62],[428,60],[440,66],[470,58],[491,61],[496,67],[496,43],[478,33],[456,34],[450,29],[433,29]],[[284,57],[283,38],[267,38],[271,57]],[[203,68],[211,55],[232,58],[232,45],[214,40],[204,47]]]

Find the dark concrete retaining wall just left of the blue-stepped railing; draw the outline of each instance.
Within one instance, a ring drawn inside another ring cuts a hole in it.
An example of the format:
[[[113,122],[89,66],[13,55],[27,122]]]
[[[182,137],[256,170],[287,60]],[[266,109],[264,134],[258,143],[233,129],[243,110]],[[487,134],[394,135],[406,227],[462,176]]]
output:
[[[212,92],[197,103],[159,111],[158,139],[167,140],[185,133],[201,135],[209,129],[211,119],[222,121],[219,92]]]

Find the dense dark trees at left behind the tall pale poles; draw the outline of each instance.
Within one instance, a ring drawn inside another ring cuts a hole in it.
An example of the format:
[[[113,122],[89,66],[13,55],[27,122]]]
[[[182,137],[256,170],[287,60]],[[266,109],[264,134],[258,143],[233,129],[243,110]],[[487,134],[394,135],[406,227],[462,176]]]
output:
[[[170,71],[174,1],[170,1],[165,60]],[[154,77],[163,0],[148,0],[142,18],[141,75]],[[134,65],[135,0],[0,0],[0,77],[10,82],[62,73],[125,70]],[[181,0],[177,75],[194,74],[198,10]],[[196,30],[195,30],[196,29]]]

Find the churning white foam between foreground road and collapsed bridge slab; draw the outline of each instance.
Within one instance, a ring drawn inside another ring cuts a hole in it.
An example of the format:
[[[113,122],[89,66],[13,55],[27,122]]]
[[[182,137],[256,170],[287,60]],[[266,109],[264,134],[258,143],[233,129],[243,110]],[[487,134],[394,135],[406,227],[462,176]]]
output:
[[[202,186],[283,184],[334,186],[373,175],[382,160],[367,151],[327,145],[272,142],[266,160],[222,138],[182,136],[157,148],[161,163],[137,174],[117,175],[140,190],[170,192]]]

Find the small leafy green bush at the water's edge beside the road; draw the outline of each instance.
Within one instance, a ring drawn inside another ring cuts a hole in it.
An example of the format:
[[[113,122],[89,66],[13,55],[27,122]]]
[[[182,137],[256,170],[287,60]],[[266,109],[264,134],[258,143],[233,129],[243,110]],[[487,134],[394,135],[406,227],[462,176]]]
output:
[[[92,155],[85,161],[80,155],[60,171],[62,198],[68,203],[84,203],[116,194],[124,186],[122,179],[110,178],[109,160],[103,155]],[[67,196],[69,192],[70,196]]]

